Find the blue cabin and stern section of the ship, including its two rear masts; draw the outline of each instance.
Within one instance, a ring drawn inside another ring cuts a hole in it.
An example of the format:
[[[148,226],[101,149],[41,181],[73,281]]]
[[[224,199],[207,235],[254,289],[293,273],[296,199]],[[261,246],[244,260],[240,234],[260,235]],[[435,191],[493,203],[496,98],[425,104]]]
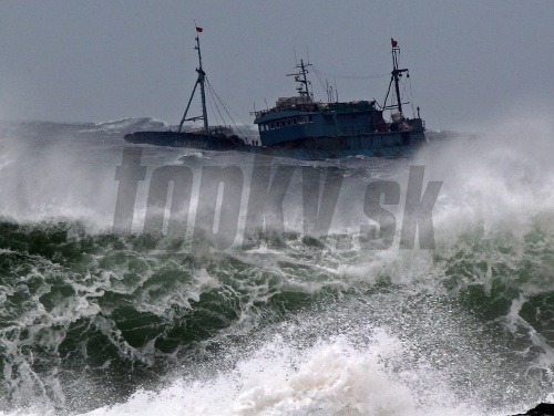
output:
[[[279,98],[275,107],[254,113],[261,146],[318,147],[320,143],[325,146],[342,144],[348,147],[353,146],[353,142],[363,141],[371,147],[381,147],[410,144],[410,132],[419,132],[423,137],[424,124],[419,117],[419,108],[418,117],[404,118],[402,115],[402,104],[408,103],[401,101],[399,79],[408,73],[408,70],[398,67],[400,49],[394,40],[391,39],[391,43],[393,70],[382,106],[378,108],[376,101],[315,102],[314,94],[309,91],[310,82],[306,76],[311,64],[300,60],[296,65],[298,72],[287,74],[298,83],[298,95]],[[397,103],[387,105],[392,85]],[[390,123],[384,121],[383,110],[393,111]],[[361,142],[358,146],[361,146]]]

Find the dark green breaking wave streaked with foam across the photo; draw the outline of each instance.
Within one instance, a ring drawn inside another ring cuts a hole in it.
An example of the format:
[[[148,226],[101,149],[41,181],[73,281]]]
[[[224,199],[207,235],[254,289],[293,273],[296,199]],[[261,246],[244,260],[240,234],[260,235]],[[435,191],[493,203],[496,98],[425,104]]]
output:
[[[6,410],[38,395],[60,409],[124,399],[175,365],[216,360],[222,345],[240,344],[291,316],[393,293],[404,302],[416,293],[456,305],[485,332],[513,343],[510,360],[524,354],[523,364],[541,366],[543,377],[554,364],[547,358],[553,235],[541,219],[523,238],[476,229],[448,249],[438,241],[439,249],[424,257],[356,247],[321,254],[319,246],[291,233],[277,251],[197,258],[186,239],[167,246],[150,236],[89,235],[79,222],[3,221],[0,228],[1,394],[11,397]],[[83,402],[75,377],[86,377],[95,397]],[[117,381],[113,389],[100,387],[109,381]],[[236,406],[248,414],[248,403],[259,401],[253,408],[285,412],[289,399],[281,393],[254,389]]]

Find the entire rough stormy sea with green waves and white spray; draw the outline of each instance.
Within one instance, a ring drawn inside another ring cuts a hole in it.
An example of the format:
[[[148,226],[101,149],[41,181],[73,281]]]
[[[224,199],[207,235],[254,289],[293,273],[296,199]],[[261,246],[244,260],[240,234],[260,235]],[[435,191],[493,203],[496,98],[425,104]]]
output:
[[[266,160],[293,174],[284,228],[259,245],[242,240],[253,156],[233,152],[143,146],[132,232],[112,231],[122,136],[145,128],[167,126],[0,124],[0,414],[507,415],[554,399],[546,117],[430,132],[410,158]],[[194,173],[172,239],[143,232],[161,166]],[[206,166],[244,180],[236,240],[198,254]],[[423,189],[442,183],[434,249],[399,245],[412,166]],[[305,232],[306,168],[321,189],[340,180],[326,238]],[[397,226],[379,250],[361,232],[376,180],[401,191],[381,202]]]

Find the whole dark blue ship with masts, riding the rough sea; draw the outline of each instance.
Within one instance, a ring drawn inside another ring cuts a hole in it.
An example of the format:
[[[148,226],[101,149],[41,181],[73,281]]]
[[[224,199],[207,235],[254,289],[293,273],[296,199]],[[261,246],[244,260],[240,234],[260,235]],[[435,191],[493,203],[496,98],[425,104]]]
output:
[[[197,79],[178,128],[167,132],[135,132],[124,139],[134,144],[189,147],[204,150],[236,150],[300,159],[341,158],[356,155],[400,157],[413,153],[425,143],[425,125],[420,110],[412,118],[403,114],[400,80],[409,77],[408,69],[399,67],[400,48],[391,39],[392,71],[384,103],[377,101],[317,102],[308,81],[309,63],[296,65],[288,74],[297,83],[296,96],[277,100],[274,107],[254,112],[259,138],[247,142],[228,126],[209,126],[206,111],[206,73],[202,65],[199,33],[196,28],[195,50],[198,54]],[[187,117],[193,97],[199,87],[202,115]],[[389,97],[391,103],[388,104]],[[383,112],[390,111],[390,121]],[[183,131],[185,122],[203,122],[203,127]]]

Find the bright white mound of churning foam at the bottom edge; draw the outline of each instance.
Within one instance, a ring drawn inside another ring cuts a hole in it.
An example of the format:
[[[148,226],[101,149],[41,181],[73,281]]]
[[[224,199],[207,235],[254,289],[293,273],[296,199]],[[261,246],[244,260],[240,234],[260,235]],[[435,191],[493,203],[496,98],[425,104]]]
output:
[[[402,345],[382,331],[368,345],[339,336],[307,350],[276,335],[253,356],[213,379],[176,381],[161,391],[138,391],[126,403],[89,413],[114,415],[472,415],[463,405],[410,388],[425,374],[397,373],[391,361]],[[434,401],[433,401],[434,399]],[[442,405],[441,405],[442,404]]]

